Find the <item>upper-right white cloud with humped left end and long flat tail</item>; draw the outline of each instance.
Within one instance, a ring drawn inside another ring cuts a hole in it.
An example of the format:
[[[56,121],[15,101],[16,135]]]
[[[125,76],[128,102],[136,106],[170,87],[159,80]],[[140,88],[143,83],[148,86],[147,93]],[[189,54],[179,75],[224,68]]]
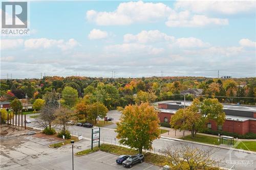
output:
[[[190,15],[189,11],[172,12],[165,22],[168,27],[204,27],[208,25],[228,25],[228,19],[209,18],[205,15]]]

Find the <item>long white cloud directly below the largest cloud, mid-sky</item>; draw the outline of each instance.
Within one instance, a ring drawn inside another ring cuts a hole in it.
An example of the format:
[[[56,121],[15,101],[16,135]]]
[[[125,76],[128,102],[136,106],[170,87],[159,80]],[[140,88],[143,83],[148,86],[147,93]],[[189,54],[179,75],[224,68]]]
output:
[[[123,36],[124,42],[139,42],[139,43],[155,43],[162,41],[173,41],[174,37],[161,33],[158,30],[141,31],[137,35],[125,34]]]

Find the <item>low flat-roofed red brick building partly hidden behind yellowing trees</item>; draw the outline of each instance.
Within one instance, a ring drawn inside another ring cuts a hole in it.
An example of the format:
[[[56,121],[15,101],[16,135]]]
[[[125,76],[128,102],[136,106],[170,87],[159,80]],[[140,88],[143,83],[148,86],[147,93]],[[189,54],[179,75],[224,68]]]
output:
[[[185,106],[189,106],[191,102],[185,102]],[[160,122],[169,123],[172,115],[180,109],[184,108],[184,102],[159,103],[159,119]],[[256,107],[242,105],[226,105],[223,104],[223,110],[226,113],[226,120],[223,126],[217,127],[214,120],[210,120],[207,127],[212,130],[223,130],[238,134],[246,134],[248,132],[256,133]]]

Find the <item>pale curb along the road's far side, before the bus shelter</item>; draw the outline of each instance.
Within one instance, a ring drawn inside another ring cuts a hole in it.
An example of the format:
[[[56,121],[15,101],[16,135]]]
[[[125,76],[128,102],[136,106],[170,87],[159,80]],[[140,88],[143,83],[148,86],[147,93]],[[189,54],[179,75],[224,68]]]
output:
[[[177,139],[177,138],[171,138],[171,137],[165,137],[165,136],[160,136],[162,139],[168,139],[168,140],[175,140],[175,141],[180,141],[180,142],[187,142],[187,143],[193,143],[193,144],[201,144],[205,145],[207,147],[215,147],[215,148],[220,148],[220,149],[226,149],[226,150],[233,150],[233,151],[239,151],[239,152],[244,152],[247,154],[256,154],[256,152],[253,151],[246,151],[246,150],[241,150],[241,149],[236,149],[236,148],[225,148],[225,147],[220,147],[218,145],[214,144],[207,144],[207,143],[201,143],[201,142],[194,142],[194,141],[189,141],[189,140],[183,140],[183,139]]]

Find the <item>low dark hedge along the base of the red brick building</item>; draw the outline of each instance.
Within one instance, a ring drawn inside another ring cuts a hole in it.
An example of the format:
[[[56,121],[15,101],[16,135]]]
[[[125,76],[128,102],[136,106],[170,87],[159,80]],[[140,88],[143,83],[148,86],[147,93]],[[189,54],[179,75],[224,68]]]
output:
[[[234,138],[239,138],[239,139],[256,139],[256,134],[255,133],[246,133],[245,135],[240,135],[238,133],[232,133],[232,132],[226,132],[226,131],[214,131],[211,129],[204,129],[200,131],[201,133],[206,133],[206,134],[211,134],[211,135],[226,135],[226,136],[233,136]]]

